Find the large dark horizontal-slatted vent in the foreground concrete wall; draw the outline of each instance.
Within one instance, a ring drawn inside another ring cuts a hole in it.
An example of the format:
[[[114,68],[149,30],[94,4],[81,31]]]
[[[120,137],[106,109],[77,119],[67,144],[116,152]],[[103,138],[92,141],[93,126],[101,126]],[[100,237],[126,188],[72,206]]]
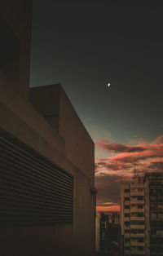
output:
[[[73,176],[0,129],[0,226],[73,223]]]

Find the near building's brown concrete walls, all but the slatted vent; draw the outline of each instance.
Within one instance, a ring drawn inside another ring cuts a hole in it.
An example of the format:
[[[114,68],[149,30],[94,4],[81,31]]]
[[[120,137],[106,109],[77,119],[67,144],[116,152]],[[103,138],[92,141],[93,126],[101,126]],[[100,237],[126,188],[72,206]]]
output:
[[[0,227],[1,255],[94,255],[94,143],[60,85],[45,87],[43,95],[32,89],[34,106],[28,101],[31,2],[3,1],[0,10],[20,41],[19,65],[10,62],[11,73],[18,70],[19,76],[12,77],[0,68],[0,128],[74,179],[73,224]]]

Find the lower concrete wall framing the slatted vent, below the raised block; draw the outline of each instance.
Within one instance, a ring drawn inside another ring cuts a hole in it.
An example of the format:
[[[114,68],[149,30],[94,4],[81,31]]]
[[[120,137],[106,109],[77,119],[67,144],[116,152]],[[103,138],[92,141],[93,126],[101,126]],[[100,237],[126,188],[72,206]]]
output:
[[[66,140],[57,134],[42,114],[20,95],[11,91],[11,87],[5,82],[3,84],[2,79],[0,84],[0,127],[74,177],[73,225],[1,229],[1,248],[6,250],[4,255],[90,256],[95,249],[95,196],[91,193],[93,179],[90,180],[86,170],[75,165],[75,161],[68,159],[65,154],[68,151]],[[79,153],[82,155],[81,151]],[[91,154],[93,156],[93,152]],[[90,166],[90,171],[93,176],[92,167]]]

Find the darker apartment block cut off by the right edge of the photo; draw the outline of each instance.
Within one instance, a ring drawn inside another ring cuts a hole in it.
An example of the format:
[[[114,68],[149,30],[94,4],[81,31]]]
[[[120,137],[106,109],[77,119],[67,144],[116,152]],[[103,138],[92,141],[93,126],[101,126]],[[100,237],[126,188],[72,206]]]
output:
[[[163,255],[163,173],[145,174],[146,255]]]

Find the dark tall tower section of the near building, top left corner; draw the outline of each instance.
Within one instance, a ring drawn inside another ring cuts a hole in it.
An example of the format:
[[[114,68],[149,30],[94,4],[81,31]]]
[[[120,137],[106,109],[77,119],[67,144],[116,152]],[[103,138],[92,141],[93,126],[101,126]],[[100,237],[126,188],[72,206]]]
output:
[[[1,42],[7,37],[6,42],[2,44],[2,51],[6,52],[6,56],[7,52],[11,55],[11,48],[13,48],[12,57],[3,60],[3,71],[10,86],[14,86],[20,95],[29,99],[32,0],[2,0],[0,18],[5,24],[5,28],[1,29]]]

